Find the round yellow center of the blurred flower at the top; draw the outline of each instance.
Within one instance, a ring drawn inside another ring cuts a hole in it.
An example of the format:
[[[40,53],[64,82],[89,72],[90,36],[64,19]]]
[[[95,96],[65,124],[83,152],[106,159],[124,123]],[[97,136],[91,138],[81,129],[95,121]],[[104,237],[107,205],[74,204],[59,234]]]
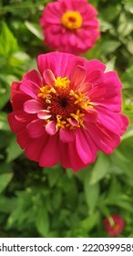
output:
[[[82,22],[82,16],[77,11],[67,11],[61,17],[62,25],[70,30],[82,27]]]

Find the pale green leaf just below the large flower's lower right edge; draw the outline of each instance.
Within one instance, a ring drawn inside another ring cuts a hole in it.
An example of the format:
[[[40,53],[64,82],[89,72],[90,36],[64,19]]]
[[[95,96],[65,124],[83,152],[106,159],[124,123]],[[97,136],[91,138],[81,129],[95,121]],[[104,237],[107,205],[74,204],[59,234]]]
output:
[[[89,179],[89,184],[93,185],[97,183],[100,179],[107,175],[109,167],[109,159],[107,155],[99,154],[97,157],[97,162],[94,165]]]

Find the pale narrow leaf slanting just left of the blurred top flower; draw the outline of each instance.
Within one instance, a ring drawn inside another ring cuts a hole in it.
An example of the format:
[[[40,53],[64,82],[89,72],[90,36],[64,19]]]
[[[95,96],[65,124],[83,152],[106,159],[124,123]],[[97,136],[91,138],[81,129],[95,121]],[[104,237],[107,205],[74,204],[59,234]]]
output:
[[[41,40],[44,39],[41,27],[39,25],[28,21],[25,22],[25,25],[29,29],[29,31],[32,32],[36,37],[38,37]]]

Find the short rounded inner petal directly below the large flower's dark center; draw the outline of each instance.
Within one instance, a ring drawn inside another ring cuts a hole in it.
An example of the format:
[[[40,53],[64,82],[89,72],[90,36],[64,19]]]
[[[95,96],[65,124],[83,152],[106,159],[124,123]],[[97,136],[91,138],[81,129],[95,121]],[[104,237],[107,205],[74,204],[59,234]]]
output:
[[[68,128],[61,128],[59,131],[59,136],[63,143],[70,143],[75,139],[75,132],[74,130],[69,130]]]

